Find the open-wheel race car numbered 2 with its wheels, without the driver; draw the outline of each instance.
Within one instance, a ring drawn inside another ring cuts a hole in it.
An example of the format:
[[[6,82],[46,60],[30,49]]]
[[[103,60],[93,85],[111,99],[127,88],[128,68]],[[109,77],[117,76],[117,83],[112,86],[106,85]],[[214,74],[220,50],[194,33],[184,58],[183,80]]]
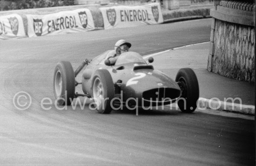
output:
[[[180,69],[172,80],[149,65],[154,61],[152,57],[147,63],[139,53],[126,52],[111,65],[108,59],[113,54],[115,50],[109,50],[91,61],[84,60],[75,71],[70,62],[60,61],[54,70],[54,96],[67,99],[58,100],[58,104],[70,105],[74,98],[84,96],[94,100],[99,113],[110,113],[113,106],[147,107],[173,102],[177,102],[182,112],[195,111],[199,86],[192,69]],[[75,77],[84,66],[78,82]],[[75,93],[79,84],[82,94]]]

